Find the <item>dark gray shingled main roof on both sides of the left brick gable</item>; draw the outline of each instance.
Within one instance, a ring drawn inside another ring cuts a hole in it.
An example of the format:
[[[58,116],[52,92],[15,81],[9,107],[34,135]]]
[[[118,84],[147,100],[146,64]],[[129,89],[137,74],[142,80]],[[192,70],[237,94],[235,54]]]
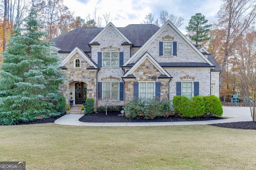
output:
[[[141,47],[159,28],[160,27],[153,24],[130,24],[117,29],[119,29],[135,47]],[[91,48],[88,43],[90,43],[102,29],[104,28],[80,27],[51,39],[50,41],[55,43],[55,47],[61,49],[60,52],[71,52],[75,47],[82,49],[84,52],[90,52]]]

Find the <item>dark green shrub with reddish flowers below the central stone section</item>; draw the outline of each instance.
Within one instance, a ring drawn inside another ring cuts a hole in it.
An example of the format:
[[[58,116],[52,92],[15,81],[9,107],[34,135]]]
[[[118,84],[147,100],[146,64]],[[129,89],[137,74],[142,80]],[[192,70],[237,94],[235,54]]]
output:
[[[169,100],[159,101],[157,98],[137,98],[124,104],[125,116],[130,119],[154,119],[170,115],[172,105]]]

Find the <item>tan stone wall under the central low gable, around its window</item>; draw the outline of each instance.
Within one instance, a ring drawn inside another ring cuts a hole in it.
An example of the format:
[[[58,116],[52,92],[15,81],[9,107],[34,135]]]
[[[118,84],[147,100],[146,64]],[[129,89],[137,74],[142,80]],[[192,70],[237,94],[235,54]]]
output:
[[[160,80],[158,78],[162,73],[152,64],[148,59],[144,61],[138,68],[132,73],[136,78],[134,79],[126,79],[125,80],[125,98],[126,100],[131,100],[134,98],[134,82],[140,81],[152,81],[152,82],[161,82],[161,100],[169,98],[169,80],[163,79]]]

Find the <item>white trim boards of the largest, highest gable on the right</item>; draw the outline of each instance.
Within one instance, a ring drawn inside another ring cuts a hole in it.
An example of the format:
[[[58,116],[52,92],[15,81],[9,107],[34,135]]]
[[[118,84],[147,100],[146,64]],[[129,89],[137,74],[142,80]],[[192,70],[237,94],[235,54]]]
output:
[[[176,35],[184,43],[186,43],[186,45],[188,45],[188,47],[192,51],[194,51],[194,53],[202,60],[202,62],[208,63],[211,66],[214,66],[207,59],[207,57],[205,57],[169,20],[166,21],[166,23],[164,23],[164,25],[162,25],[162,27],[160,27],[160,29],[158,29],[158,31],[156,31],[156,33],[154,33],[154,35],[150,39],[148,39],[148,41],[146,43],[144,43],[144,45],[128,61],[126,61],[126,63],[124,63],[124,66],[134,62],[134,60],[138,57],[138,55],[140,55],[140,53],[142,53],[142,51],[144,51],[156,39],[156,37],[158,37],[162,33],[162,31],[164,31],[164,29],[166,29],[166,27],[169,27],[172,31],[174,31],[174,33],[176,33]]]

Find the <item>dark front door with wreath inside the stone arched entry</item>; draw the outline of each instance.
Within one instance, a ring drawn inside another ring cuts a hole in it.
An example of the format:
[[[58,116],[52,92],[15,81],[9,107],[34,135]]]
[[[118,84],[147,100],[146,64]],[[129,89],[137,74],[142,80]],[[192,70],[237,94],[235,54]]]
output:
[[[75,83],[75,104],[82,104],[86,100],[87,84],[84,82]]]

